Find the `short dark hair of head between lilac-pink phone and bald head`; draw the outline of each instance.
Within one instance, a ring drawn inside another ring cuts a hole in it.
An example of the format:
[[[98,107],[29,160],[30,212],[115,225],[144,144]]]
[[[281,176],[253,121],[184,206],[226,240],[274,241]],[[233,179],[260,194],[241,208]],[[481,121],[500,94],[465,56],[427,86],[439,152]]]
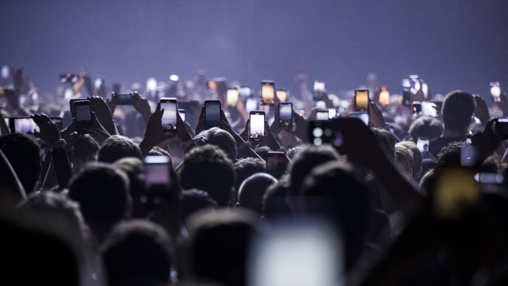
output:
[[[226,153],[215,145],[191,149],[179,168],[182,189],[206,191],[219,206],[227,206],[235,182],[235,167]]]

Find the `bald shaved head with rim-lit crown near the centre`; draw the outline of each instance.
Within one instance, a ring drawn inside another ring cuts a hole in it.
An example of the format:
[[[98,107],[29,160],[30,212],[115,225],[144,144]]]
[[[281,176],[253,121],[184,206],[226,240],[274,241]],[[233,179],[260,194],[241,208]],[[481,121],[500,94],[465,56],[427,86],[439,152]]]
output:
[[[238,190],[238,206],[261,215],[263,196],[266,189],[274,183],[277,183],[277,179],[267,173],[257,173],[248,177]]]

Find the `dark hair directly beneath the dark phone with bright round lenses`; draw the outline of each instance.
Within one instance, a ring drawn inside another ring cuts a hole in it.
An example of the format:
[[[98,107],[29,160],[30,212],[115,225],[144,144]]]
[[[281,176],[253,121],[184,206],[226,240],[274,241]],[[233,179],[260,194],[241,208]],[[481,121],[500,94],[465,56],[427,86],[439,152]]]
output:
[[[325,162],[340,160],[340,155],[335,148],[329,144],[320,146],[307,145],[297,154],[288,167],[290,174],[291,195],[298,195],[299,189],[303,185],[305,176],[310,173],[313,167]]]

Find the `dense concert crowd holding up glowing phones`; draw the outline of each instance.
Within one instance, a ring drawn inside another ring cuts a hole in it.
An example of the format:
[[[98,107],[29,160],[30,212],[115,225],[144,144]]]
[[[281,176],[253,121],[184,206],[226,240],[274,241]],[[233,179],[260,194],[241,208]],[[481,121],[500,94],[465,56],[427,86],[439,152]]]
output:
[[[461,90],[440,98],[419,81],[386,100],[370,76],[360,118],[355,97],[312,90],[304,74],[300,96],[265,104],[254,89],[229,104],[233,84],[214,78],[210,88],[204,75],[110,93],[79,74],[51,100],[21,69],[9,79],[0,98],[5,281],[508,284],[506,93],[492,103]],[[185,113],[174,132],[163,131],[161,97]],[[256,140],[248,98],[266,113]],[[72,99],[90,102],[86,132]],[[221,102],[218,127],[206,123],[209,99]],[[279,120],[284,101],[291,128]],[[422,101],[435,116],[414,114]],[[316,120],[323,109],[334,112]],[[17,132],[18,117],[36,132]],[[282,174],[267,163],[280,152]]]

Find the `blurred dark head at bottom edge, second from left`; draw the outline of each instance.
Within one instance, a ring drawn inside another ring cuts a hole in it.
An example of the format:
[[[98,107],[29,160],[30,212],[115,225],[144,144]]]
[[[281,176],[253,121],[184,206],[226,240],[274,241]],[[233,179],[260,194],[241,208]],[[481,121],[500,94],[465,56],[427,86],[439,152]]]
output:
[[[169,284],[171,245],[160,224],[146,219],[118,222],[100,250],[108,285]]]

